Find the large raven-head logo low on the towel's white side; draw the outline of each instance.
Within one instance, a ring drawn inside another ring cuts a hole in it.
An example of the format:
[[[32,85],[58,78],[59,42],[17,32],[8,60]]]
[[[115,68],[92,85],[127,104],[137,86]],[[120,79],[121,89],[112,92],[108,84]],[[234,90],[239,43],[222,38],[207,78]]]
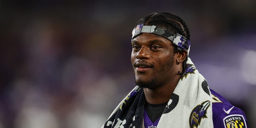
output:
[[[202,104],[199,104],[192,110],[189,118],[190,128],[194,128],[194,127],[197,128],[198,125],[200,125],[202,118],[207,118],[206,110],[208,109],[209,106],[210,106],[210,101],[207,100],[205,102],[202,102]]]

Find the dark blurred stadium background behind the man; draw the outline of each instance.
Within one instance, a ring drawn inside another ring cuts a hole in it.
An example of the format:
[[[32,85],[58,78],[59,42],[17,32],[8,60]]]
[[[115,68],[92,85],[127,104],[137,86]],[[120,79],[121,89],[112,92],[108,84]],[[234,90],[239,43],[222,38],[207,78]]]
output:
[[[0,0],[0,128],[100,128],[134,88],[131,32],[186,21],[190,58],[256,128],[255,0]]]

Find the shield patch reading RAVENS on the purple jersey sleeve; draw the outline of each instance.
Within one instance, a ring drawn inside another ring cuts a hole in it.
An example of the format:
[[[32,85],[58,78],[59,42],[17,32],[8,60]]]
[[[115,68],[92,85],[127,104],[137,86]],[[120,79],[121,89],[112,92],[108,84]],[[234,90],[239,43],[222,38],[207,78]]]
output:
[[[229,115],[223,119],[225,128],[247,128],[244,116]]]

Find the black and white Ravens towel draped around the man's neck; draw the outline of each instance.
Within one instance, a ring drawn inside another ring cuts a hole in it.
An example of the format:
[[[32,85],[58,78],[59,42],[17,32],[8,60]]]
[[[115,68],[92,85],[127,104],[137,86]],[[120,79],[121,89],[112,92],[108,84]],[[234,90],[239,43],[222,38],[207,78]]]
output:
[[[145,102],[143,88],[136,86],[102,128],[142,128]],[[157,128],[213,128],[210,89],[190,58]]]

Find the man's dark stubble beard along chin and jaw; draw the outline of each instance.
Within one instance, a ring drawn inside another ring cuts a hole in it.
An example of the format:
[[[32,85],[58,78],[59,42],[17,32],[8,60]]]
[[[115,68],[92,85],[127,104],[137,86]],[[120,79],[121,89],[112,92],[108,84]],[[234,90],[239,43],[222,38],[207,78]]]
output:
[[[174,55],[170,57],[170,59],[166,63],[166,65],[162,66],[161,71],[164,73],[166,70],[169,70],[173,66],[173,64],[174,64]],[[149,88],[151,90],[155,90],[156,88],[163,86],[163,84],[158,83],[156,74],[154,74],[154,76],[152,76],[152,79],[149,81],[146,81],[146,82],[144,82],[142,80],[136,81],[136,79],[135,79],[135,83],[140,88]]]

